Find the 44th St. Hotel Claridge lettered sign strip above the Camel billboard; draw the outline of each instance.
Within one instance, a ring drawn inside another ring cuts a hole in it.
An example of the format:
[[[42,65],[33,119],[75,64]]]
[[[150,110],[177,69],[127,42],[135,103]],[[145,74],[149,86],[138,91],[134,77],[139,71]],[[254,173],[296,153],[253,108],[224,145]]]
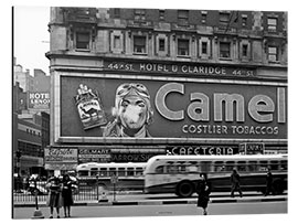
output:
[[[255,76],[253,68],[240,68],[231,66],[205,65],[205,64],[163,64],[163,63],[126,63],[126,62],[104,62],[104,68],[107,71],[159,73],[159,74],[188,74],[204,75],[212,77],[223,76]]]

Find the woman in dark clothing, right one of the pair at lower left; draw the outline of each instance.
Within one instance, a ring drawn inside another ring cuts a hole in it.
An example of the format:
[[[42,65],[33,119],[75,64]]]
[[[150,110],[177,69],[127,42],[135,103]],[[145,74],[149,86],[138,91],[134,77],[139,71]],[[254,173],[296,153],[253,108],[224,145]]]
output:
[[[63,207],[64,207],[64,217],[71,217],[71,206],[74,204],[73,200],[73,181],[68,174],[63,175],[62,183],[62,199],[63,199]]]

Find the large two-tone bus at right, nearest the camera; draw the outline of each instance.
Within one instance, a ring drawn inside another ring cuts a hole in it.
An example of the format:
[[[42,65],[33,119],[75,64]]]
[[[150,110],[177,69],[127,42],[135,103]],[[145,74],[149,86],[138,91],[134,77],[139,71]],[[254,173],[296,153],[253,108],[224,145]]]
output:
[[[243,191],[265,193],[270,168],[274,190],[280,194],[287,190],[287,167],[286,154],[156,156],[147,162],[145,192],[191,196],[200,173],[206,173],[212,192],[231,191],[230,177],[236,169]]]

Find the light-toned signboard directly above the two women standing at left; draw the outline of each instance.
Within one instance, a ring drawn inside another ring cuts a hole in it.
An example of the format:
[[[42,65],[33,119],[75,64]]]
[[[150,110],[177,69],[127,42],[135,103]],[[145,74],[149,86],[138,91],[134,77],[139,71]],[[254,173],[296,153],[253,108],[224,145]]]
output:
[[[77,166],[77,148],[51,147],[44,149],[46,170],[73,170]]]

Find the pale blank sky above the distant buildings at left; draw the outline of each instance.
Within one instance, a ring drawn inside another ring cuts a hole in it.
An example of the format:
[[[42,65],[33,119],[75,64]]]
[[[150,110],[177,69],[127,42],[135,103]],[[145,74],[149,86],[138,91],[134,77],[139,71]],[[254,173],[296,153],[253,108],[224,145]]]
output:
[[[50,51],[49,7],[15,7],[13,10],[13,55],[23,70],[40,68],[49,74],[50,61],[45,53]]]

